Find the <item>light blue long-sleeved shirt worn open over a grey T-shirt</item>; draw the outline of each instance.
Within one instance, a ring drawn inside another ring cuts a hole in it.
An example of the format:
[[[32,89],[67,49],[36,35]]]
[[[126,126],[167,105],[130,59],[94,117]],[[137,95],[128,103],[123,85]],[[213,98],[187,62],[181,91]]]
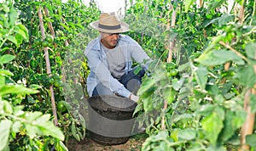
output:
[[[120,47],[125,57],[125,74],[131,70],[132,59],[140,64],[143,64],[144,59],[150,60],[148,55],[143,51],[143,48],[141,48],[136,41],[131,39],[130,36],[119,35],[117,47]],[[87,48],[85,48],[84,54],[90,68],[90,74],[87,77],[87,92],[90,97],[96,85],[102,83],[102,85],[108,87],[111,92],[129,98],[131,92],[117,79],[113,78],[108,70],[108,58],[101,47],[101,36],[89,42]],[[147,69],[148,63],[143,64],[143,66]]]

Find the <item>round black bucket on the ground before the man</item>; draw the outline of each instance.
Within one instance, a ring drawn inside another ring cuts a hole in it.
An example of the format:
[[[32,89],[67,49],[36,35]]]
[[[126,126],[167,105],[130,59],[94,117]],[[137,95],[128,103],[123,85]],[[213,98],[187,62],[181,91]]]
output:
[[[131,99],[114,95],[89,98],[90,138],[104,145],[126,143],[131,136],[136,106]]]

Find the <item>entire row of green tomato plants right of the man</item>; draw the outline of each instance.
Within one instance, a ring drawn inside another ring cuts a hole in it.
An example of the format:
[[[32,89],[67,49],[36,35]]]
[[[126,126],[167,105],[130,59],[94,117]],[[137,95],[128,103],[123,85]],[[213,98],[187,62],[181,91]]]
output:
[[[146,31],[133,37],[156,60],[138,92],[136,115],[150,136],[142,150],[255,148],[255,2],[220,11],[230,4],[155,0],[128,9],[154,20],[133,26]]]

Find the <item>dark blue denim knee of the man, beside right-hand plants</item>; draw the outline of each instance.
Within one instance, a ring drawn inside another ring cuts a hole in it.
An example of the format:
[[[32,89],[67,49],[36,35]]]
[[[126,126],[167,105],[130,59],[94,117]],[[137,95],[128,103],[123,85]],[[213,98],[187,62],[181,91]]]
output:
[[[129,71],[127,75],[122,76],[119,82],[134,95],[137,95],[137,91],[142,84],[142,77],[145,75],[145,70],[142,69],[137,74],[134,73],[135,70],[137,70],[137,68]]]

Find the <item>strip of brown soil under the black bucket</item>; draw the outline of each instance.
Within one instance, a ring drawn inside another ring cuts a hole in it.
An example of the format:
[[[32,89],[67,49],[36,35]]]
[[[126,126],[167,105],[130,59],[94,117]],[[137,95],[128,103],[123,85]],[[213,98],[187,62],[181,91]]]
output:
[[[83,141],[78,142],[75,138],[70,137],[68,140],[67,148],[69,151],[139,151],[142,148],[147,134],[137,134],[132,136],[124,144],[105,146],[94,142],[90,137],[85,137]]]

